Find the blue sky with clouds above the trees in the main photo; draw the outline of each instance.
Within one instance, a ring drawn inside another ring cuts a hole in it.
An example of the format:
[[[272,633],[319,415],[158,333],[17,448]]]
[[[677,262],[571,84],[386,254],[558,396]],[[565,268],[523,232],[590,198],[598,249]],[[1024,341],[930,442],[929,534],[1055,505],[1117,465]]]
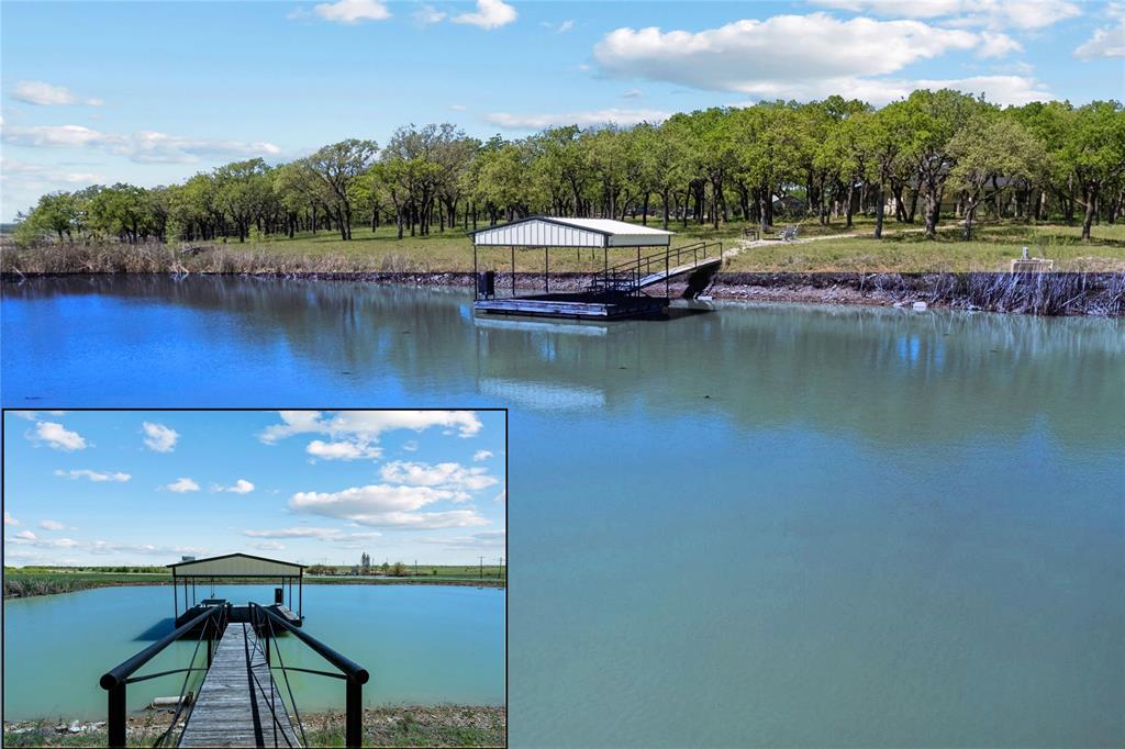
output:
[[[919,85],[1002,103],[1125,91],[1125,3],[2,2],[0,218],[243,157],[452,121],[559,123]]]

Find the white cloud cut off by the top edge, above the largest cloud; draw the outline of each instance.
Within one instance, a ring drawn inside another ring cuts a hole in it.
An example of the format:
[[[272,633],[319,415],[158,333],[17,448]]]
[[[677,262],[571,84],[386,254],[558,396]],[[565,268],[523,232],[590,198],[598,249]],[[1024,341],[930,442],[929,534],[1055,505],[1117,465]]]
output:
[[[891,18],[942,19],[955,26],[1034,30],[1081,15],[1068,0],[813,0],[838,10]]]

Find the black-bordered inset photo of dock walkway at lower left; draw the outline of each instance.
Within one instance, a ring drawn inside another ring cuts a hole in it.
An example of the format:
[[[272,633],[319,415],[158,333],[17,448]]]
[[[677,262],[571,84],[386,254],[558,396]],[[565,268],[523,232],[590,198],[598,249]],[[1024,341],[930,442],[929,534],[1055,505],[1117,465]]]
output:
[[[502,747],[507,412],[3,412],[3,743]]]

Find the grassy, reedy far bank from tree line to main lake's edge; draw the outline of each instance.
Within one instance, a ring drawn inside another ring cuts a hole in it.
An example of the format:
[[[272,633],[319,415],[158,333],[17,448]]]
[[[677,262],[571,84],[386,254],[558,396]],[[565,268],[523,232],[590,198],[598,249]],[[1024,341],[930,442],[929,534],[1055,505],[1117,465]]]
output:
[[[980,246],[920,242],[918,234],[881,241],[862,236],[824,238],[813,228],[807,242],[739,242],[735,229],[720,232],[728,251],[723,269],[703,296],[713,299],[834,305],[933,307],[1034,315],[1125,316],[1125,225],[1105,227],[1107,238],[1079,243],[1073,227],[997,225],[979,229]],[[451,233],[453,234],[453,233]],[[242,276],[342,280],[424,287],[472,286],[472,251],[467,237],[426,237],[408,253],[388,252],[384,237],[342,243],[332,237],[231,245],[104,244],[53,245],[50,250],[0,250],[3,279],[82,274]],[[706,235],[709,233],[704,233]],[[943,233],[939,233],[942,236]],[[699,234],[692,235],[694,240]],[[1059,272],[1017,276],[1006,270],[1015,246],[1055,261]],[[876,245],[868,252],[867,244]],[[947,247],[955,252],[945,252]],[[505,253],[506,254],[506,253]],[[595,253],[596,254],[596,253]],[[533,255],[533,258],[532,258]],[[559,252],[551,258],[551,288],[576,290],[596,269],[596,259]],[[516,288],[542,288],[541,254],[518,253]],[[497,288],[511,283],[511,265],[483,253],[482,268],[497,270]],[[988,260],[986,262],[986,260]],[[922,268],[932,270],[919,270]],[[682,283],[672,294],[683,292]],[[6,592],[7,595],[7,592]]]

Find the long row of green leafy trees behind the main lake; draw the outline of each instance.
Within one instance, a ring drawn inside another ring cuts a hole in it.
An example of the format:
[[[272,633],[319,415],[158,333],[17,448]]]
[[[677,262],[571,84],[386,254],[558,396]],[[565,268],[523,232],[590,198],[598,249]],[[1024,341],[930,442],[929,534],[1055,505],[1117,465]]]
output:
[[[785,211],[848,227],[886,211],[935,236],[943,210],[1113,223],[1125,209],[1125,111],[1117,101],[1001,108],[919,90],[881,109],[838,96],[677,114],[632,127],[550,127],[488,141],[450,124],[399,127],[384,147],[346,139],[278,165],[261,159],[181,184],[94,186],[43,196],[17,227],[34,242],[207,242],[394,225],[398,238],[533,214],[757,223]]]

